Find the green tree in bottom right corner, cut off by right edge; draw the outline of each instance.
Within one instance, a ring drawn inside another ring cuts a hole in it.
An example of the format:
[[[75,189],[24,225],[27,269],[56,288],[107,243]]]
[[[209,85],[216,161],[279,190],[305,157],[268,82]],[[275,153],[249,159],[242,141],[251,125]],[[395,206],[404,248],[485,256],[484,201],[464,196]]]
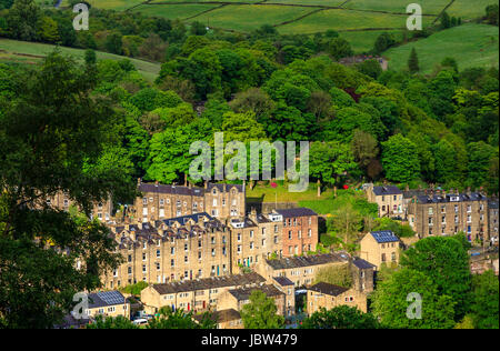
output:
[[[492,270],[472,279],[472,320],[478,329],[498,329],[498,277]]]

